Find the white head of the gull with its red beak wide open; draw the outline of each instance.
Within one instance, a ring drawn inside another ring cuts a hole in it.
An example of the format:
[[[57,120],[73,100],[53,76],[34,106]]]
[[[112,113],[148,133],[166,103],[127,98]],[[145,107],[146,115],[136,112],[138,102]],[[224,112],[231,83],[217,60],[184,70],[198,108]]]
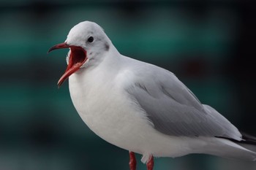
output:
[[[74,26],[69,31],[65,42],[54,45],[48,50],[50,53],[52,50],[69,48],[67,69],[59,79],[58,85],[60,86],[79,69],[102,60],[101,54],[109,50],[110,44],[110,39],[97,23],[84,21]]]

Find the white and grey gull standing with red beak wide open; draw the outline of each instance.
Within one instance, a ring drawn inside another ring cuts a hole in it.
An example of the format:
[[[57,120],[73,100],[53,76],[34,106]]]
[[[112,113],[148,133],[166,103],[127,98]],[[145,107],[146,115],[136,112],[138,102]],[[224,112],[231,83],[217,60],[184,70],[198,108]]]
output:
[[[91,21],[74,26],[69,48],[69,92],[78,114],[91,131],[129,151],[129,169],[136,169],[135,152],[147,169],[154,157],[176,158],[192,153],[256,161],[256,138],[238,131],[216,109],[201,104],[175,74],[121,55],[105,31]]]

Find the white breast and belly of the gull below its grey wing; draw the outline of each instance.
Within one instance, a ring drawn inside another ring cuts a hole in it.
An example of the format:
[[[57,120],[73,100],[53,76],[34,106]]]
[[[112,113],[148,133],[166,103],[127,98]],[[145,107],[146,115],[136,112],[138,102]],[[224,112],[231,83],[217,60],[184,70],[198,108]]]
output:
[[[97,66],[69,77],[72,102],[91,131],[111,144],[143,154],[143,162],[150,154],[176,157],[189,153],[188,139],[159,133],[144,110],[125,92],[123,85],[132,79],[132,74],[123,71],[118,75],[102,72]]]

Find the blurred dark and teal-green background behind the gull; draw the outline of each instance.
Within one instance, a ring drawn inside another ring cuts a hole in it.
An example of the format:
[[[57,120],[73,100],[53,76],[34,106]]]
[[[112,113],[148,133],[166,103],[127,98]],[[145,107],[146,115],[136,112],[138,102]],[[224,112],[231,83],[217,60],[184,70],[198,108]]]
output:
[[[0,1],[0,169],[128,170],[129,155],[78,116],[67,50],[50,55],[75,24],[92,20],[123,55],[174,72],[202,103],[256,136],[256,6],[253,1]],[[136,155],[140,159],[140,155]],[[138,161],[138,169],[146,169]],[[155,169],[256,169],[256,163],[188,155]]]

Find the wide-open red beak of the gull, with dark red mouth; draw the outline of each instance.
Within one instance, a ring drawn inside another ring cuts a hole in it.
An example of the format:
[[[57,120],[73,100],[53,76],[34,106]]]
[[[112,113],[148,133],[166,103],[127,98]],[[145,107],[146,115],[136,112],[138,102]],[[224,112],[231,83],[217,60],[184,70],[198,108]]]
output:
[[[83,66],[83,63],[85,63],[88,59],[86,55],[86,50],[84,50],[83,47],[79,47],[75,45],[67,45],[66,42],[61,43],[59,45],[54,45],[48,50],[48,53],[50,53],[52,50],[61,49],[61,48],[69,48],[70,54],[69,54],[69,63],[67,65],[67,69],[57,83],[59,87],[65,80],[67,80],[67,78],[71,74],[78,71],[78,69],[80,69],[80,66]]]

